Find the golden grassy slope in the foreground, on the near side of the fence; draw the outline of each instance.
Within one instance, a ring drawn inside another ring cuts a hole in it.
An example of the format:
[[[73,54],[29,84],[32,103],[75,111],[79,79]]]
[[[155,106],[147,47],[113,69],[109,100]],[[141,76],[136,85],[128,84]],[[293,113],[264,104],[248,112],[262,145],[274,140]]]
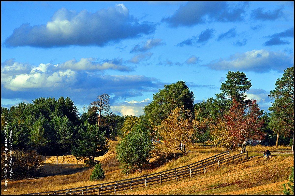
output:
[[[142,190],[133,190],[120,194],[126,195],[283,195],[283,183],[289,182],[285,178],[279,180],[269,179],[250,188],[239,187],[235,180],[253,179],[255,174],[261,173],[263,168],[272,164],[286,164],[294,166],[294,157],[275,156],[270,160],[253,157],[249,161],[235,165],[229,165],[216,172],[186,178],[178,182],[162,184]],[[290,173],[291,174],[291,173]],[[258,175],[259,176],[259,175]]]

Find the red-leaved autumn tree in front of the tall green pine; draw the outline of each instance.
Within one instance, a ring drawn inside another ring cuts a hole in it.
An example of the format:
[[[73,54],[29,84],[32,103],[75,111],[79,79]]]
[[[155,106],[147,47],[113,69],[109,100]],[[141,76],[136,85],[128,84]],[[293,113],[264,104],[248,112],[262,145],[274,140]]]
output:
[[[248,140],[262,140],[264,132],[259,128],[263,126],[263,111],[260,111],[255,99],[250,103],[242,105],[233,99],[232,108],[224,115],[228,130],[241,144],[241,151],[246,151]]]

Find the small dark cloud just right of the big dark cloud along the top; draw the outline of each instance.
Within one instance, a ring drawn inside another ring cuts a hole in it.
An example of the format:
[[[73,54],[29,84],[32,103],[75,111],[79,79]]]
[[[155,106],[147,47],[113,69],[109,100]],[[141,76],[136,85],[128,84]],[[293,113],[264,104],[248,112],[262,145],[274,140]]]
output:
[[[273,11],[263,11],[263,8],[257,8],[252,10],[251,12],[251,18],[257,19],[257,20],[276,20],[278,18],[283,17],[283,8],[278,8]]]

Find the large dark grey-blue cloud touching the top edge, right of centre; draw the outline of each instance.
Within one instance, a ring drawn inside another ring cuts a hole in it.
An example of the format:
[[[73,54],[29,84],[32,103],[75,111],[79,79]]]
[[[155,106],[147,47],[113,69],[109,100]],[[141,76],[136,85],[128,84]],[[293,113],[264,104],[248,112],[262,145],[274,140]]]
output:
[[[237,22],[244,19],[245,7],[248,2],[229,4],[226,1],[189,1],[181,5],[170,17],[164,17],[170,27],[193,26],[207,22]]]

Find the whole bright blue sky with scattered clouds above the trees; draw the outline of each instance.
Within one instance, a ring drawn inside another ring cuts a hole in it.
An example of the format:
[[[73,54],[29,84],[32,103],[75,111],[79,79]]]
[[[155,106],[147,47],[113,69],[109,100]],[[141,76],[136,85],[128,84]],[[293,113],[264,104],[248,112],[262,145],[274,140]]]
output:
[[[165,84],[195,103],[228,71],[246,74],[261,109],[294,64],[294,1],[1,1],[1,106],[98,95],[140,116]]]

